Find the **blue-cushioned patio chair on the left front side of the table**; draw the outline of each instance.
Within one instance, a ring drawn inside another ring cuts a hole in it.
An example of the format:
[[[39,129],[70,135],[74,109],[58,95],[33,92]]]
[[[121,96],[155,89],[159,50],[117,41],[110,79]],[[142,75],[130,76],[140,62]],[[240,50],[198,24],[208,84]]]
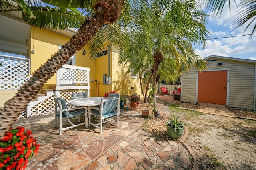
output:
[[[83,107],[76,107],[76,108],[68,108],[68,105],[65,101],[65,99],[58,97],[54,98],[55,101],[55,125],[54,127],[57,127],[57,121],[59,120],[60,123],[60,132],[59,134],[62,134],[63,130],[70,129],[73,127],[77,127],[80,125],[86,125],[86,118],[83,123],[80,123],[80,115],[85,113],[85,109]],[[58,119],[58,120],[57,120]],[[79,124],[74,124],[70,120],[71,119],[78,119]],[[62,122],[68,121],[71,126],[62,128]]]

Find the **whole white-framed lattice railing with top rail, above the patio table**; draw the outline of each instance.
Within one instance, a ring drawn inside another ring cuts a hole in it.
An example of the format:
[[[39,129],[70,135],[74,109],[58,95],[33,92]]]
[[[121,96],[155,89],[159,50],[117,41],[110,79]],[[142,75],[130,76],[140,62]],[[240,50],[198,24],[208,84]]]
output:
[[[57,71],[57,86],[89,85],[89,73],[89,68],[65,64]]]

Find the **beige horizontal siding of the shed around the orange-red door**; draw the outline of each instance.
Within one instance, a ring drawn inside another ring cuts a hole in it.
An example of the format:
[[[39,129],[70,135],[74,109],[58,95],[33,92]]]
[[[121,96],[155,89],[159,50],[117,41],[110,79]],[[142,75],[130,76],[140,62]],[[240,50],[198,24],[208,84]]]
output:
[[[217,61],[208,61],[206,71],[230,70],[228,106],[246,109],[254,109],[254,86],[255,86],[255,64],[236,60],[226,60],[225,57],[210,57]],[[226,57],[227,58],[227,57]],[[218,65],[222,63],[222,65]],[[182,98],[183,102],[196,103],[196,70],[193,68],[188,75],[182,75]]]

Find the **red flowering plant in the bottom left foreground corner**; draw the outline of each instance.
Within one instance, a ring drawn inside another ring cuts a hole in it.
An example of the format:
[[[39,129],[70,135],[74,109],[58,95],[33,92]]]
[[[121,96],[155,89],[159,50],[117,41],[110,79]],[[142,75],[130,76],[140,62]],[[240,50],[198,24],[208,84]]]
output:
[[[24,170],[28,159],[38,153],[39,146],[30,130],[10,128],[0,140],[0,170]]]

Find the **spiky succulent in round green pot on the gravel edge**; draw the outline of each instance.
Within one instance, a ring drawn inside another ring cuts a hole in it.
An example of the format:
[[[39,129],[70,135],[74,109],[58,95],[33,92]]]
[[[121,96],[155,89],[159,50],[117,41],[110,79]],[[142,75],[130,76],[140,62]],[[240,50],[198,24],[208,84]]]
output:
[[[173,117],[169,117],[170,121],[166,122],[164,126],[166,126],[167,133],[174,139],[181,138],[184,133],[184,125],[187,126],[184,122],[178,121],[180,116],[177,118],[175,115]]]

